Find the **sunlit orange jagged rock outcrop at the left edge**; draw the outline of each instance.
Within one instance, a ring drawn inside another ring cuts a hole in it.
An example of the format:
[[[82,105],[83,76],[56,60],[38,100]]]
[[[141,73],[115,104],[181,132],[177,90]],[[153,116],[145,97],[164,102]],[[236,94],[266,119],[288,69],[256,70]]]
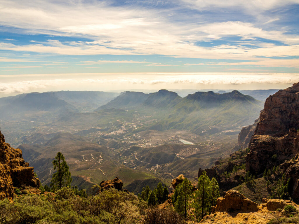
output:
[[[10,147],[0,131],[0,199],[12,200],[14,187],[39,188],[39,185],[33,167],[29,167],[22,157],[22,150]]]

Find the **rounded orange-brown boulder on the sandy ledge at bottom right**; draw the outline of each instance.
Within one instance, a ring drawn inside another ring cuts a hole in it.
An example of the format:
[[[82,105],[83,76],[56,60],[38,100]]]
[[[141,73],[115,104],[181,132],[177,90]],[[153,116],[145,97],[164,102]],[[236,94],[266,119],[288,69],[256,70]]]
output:
[[[216,208],[213,211],[258,211],[258,204],[246,198],[239,191],[227,191],[224,197],[217,199]]]

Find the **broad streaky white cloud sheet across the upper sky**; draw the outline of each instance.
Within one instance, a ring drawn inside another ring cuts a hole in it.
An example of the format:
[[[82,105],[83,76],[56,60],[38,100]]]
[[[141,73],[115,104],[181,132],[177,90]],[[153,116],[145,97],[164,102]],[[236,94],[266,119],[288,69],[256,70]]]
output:
[[[242,8],[260,12],[274,10],[289,4],[298,4],[299,0],[263,2],[260,0],[181,0],[180,2],[182,5],[195,7],[198,10]],[[36,7],[37,5],[38,7]],[[169,16],[170,14],[172,16]],[[268,29],[254,22],[242,21],[207,23],[200,16],[184,20],[184,14],[180,14],[180,10],[177,9],[112,7],[109,5],[109,1],[78,3],[77,1],[1,0],[0,15],[2,26],[16,27],[22,29],[20,32],[27,34],[53,36],[48,42],[31,40],[30,44],[24,45],[0,43],[1,50],[60,55],[159,54],[173,57],[244,60],[299,55],[299,37],[288,34],[287,28]],[[193,21],[193,19],[196,20]],[[278,16],[276,19],[267,19],[264,23],[269,24],[277,20]],[[55,39],[55,36],[72,36],[79,39],[84,37],[91,41],[84,39],[84,41],[60,42]],[[245,44],[246,41],[217,47],[203,47],[196,44],[211,39],[225,41],[225,38],[230,36],[246,39],[247,44],[255,45],[257,48],[243,46],[242,44]],[[280,41],[289,46],[259,42],[254,40],[255,38]],[[169,66],[159,63],[144,63],[144,65]]]

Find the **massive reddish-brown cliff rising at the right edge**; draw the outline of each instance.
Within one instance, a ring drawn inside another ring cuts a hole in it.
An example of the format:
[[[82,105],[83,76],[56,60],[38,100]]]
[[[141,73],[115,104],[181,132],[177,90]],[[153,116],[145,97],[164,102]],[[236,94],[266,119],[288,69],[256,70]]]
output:
[[[246,170],[262,173],[279,165],[291,178],[292,198],[299,200],[299,83],[269,96],[260,113],[260,121],[251,137]],[[274,156],[273,156],[274,155]],[[296,157],[298,158],[298,156]]]

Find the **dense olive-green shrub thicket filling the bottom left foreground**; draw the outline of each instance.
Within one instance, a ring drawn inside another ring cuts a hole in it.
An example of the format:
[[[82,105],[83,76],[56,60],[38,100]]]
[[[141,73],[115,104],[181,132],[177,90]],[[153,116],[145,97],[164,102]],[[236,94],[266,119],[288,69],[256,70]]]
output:
[[[74,196],[71,188],[53,195],[26,194],[13,202],[0,200],[0,223],[5,224],[140,224],[147,202],[132,193],[109,189],[99,195]]]

